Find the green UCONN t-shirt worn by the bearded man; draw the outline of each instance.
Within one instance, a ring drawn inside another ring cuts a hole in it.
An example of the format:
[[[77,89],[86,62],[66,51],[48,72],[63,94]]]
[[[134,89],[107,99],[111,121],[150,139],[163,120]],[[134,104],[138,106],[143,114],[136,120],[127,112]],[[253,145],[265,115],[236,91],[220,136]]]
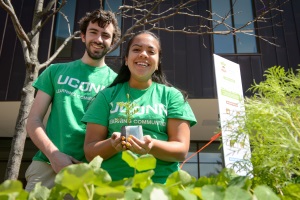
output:
[[[97,68],[76,60],[49,66],[34,82],[36,89],[52,97],[46,133],[61,152],[87,162],[83,151],[86,125],[81,119],[91,99],[116,76],[108,66]],[[49,162],[41,151],[33,160]]]

